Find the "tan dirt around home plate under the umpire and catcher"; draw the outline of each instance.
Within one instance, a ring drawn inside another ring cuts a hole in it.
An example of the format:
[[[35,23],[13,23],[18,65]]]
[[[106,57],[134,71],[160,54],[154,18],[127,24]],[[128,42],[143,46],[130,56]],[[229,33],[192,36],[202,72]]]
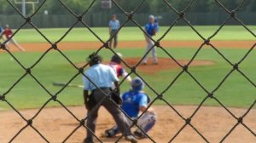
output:
[[[195,111],[196,106],[174,106],[178,112],[181,112],[183,117],[187,118],[191,116],[192,112]],[[71,106],[68,107],[76,117],[79,119],[85,116],[84,106]],[[177,117],[177,114],[172,111],[168,106],[154,106],[158,114],[158,120],[154,129],[149,131],[149,135],[156,142],[168,142],[172,136],[177,133],[178,129],[181,129],[184,121]],[[232,112],[235,113],[236,117],[240,117],[246,112],[244,109],[231,108]],[[21,114],[26,118],[31,118],[38,109],[33,110],[22,110]],[[19,117],[15,112],[0,112],[0,140],[1,143],[8,142],[26,123]],[[247,117],[244,118],[243,123],[256,131],[256,110],[248,113]],[[203,134],[207,140],[211,143],[219,142],[225,134],[237,123],[237,121],[230,116],[230,114],[224,111],[221,107],[209,107],[202,106],[199,112],[195,114],[195,117],[191,120],[191,124]],[[79,123],[73,119],[73,117],[61,107],[57,108],[46,108],[38,117],[33,120],[33,126],[44,134],[45,138],[53,143],[59,143],[63,141],[73,129],[75,129]],[[96,135],[101,136],[105,129],[111,128],[114,125],[113,118],[109,113],[101,108],[99,118],[96,125]],[[85,129],[80,128],[73,134],[73,136],[67,140],[70,143],[81,143],[84,139]],[[113,142],[117,140],[117,137],[113,139],[106,139],[100,137],[103,142]],[[27,142],[44,142],[40,136],[31,128],[28,127],[14,142],[27,143]],[[124,142],[122,140],[121,142]],[[148,139],[140,140],[139,142],[148,143],[151,142]],[[189,126],[186,126],[183,131],[177,135],[177,139],[174,142],[178,143],[198,143],[205,142],[201,137],[196,134],[195,130]],[[256,142],[255,136],[251,134],[243,126],[238,125],[233,133],[224,141],[228,143],[254,143]]]

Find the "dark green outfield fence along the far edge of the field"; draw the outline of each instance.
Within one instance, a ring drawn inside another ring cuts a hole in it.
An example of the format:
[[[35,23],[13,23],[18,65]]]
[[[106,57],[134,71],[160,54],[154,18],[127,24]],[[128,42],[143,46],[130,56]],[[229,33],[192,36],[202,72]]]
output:
[[[107,27],[110,15],[115,14],[113,12],[97,12],[88,13],[83,17],[86,24],[90,27]],[[247,25],[256,25],[255,14],[253,12],[241,12],[238,13],[238,17]],[[123,22],[126,20],[124,14],[116,13],[118,19]],[[137,23],[143,25],[148,21],[149,14],[134,14],[134,19]],[[173,20],[177,19],[177,14],[175,13],[161,13],[155,14],[159,18],[160,26],[170,26]],[[227,14],[222,11],[217,11],[214,13],[189,13],[186,18],[190,21],[192,25],[196,26],[219,26],[225,20]],[[13,28],[18,28],[24,19],[18,14],[0,14],[0,26],[2,24],[9,24]],[[32,19],[32,23],[38,26],[38,28],[60,28],[60,27],[70,27],[73,21],[76,20],[71,14],[37,14]],[[15,21],[15,22],[14,22]],[[49,22],[50,21],[50,22]],[[229,25],[239,26],[236,20],[230,20]],[[132,22],[128,22],[125,26],[135,26]],[[187,26],[186,23],[179,21],[177,26]],[[83,27],[83,25],[78,24],[76,27]],[[31,28],[31,26],[24,26],[23,28]]]

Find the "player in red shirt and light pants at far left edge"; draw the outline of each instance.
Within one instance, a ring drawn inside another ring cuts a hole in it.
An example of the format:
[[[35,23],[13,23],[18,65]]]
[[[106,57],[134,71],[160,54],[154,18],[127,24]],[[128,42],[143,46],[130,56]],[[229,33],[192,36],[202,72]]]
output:
[[[7,39],[7,43],[6,43],[6,48],[10,49],[9,47],[9,43],[13,43],[15,45],[16,48],[20,49],[20,51],[25,51],[25,49],[23,49],[16,41],[15,38],[12,37],[13,35],[13,31],[10,29],[9,25],[6,25],[3,32],[0,35],[0,38],[3,37],[3,35],[6,37]]]

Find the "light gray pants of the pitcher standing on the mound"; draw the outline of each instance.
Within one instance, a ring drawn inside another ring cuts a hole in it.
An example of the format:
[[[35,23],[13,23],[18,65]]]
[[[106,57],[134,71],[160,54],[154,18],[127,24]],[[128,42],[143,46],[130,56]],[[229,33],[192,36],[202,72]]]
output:
[[[147,43],[147,47],[146,47],[146,52],[145,54],[153,47],[154,42],[149,38],[149,37],[145,37],[146,38],[146,43]],[[154,48],[151,49],[152,52],[152,57],[153,57],[153,62],[157,63],[157,54],[156,54],[156,47],[154,46]],[[149,52],[150,53],[150,52]],[[148,54],[146,54],[146,56],[143,59],[143,63],[147,63],[148,61]]]

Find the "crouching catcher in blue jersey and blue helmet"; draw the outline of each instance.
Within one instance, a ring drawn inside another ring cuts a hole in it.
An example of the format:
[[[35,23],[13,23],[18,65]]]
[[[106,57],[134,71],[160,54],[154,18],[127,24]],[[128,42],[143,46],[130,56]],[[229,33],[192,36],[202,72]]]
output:
[[[131,118],[137,118],[139,112],[145,112],[148,102],[150,102],[148,95],[143,92],[143,88],[143,80],[136,77],[131,81],[131,90],[122,95],[123,104],[121,108]],[[156,113],[154,112],[153,108],[149,108],[147,112],[145,112],[143,116],[138,119],[137,125],[140,126],[145,133],[147,133],[150,129],[152,129],[155,121]],[[130,125],[132,124],[131,121],[129,123]],[[146,134],[144,134],[141,129],[137,129],[134,132],[134,135],[137,137],[137,139],[147,138]],[[107,129],[104,135],[110,138],[119,133],[119,127],[114,126],[112,129]]]

